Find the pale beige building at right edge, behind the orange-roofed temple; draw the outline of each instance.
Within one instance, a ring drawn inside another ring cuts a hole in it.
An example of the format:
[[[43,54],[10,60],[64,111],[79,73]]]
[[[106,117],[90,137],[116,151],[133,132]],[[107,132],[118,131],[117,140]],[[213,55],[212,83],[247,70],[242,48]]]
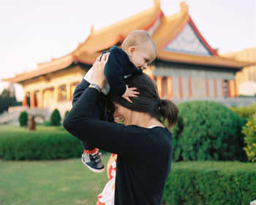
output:
[[[222,57],[253,63],[236,72],[235,83],[238,88],[238,95],[254,96],[256,94],[256,47],[225,53],[222,54]]]

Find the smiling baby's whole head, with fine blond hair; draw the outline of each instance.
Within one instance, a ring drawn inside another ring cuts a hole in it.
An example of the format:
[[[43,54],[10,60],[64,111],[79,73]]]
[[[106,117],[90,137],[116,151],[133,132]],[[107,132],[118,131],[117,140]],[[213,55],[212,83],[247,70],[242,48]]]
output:
[[[138,69],[144,70],[157,57],[157,45],[147,31],[132,31],[121,45]]]

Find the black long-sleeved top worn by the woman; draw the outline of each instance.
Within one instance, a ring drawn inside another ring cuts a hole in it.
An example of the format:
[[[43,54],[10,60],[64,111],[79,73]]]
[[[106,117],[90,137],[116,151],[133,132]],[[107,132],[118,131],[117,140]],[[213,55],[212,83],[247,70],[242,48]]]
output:
[[[100,150],[118,155],[115,204],[161,204],[173,155],[167,128],[142,128],[91,117],[99,91],[88,88],[64,119],[64,128]]]

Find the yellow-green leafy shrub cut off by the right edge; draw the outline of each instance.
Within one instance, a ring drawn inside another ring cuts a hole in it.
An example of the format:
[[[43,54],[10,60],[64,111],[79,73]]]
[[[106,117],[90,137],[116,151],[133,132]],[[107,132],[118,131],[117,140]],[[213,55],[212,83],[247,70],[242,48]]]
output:
[[[249,160],[256,161],[256,115],[252,117],[243,128],[245,134],[244,142],[246,147],[244,150]]]

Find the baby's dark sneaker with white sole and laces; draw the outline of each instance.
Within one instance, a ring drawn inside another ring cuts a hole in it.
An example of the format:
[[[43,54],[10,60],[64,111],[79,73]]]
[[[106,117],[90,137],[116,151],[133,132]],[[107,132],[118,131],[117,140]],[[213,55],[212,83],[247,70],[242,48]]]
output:
[[[100,159],[100,155],[102,155],[102,153],[97,151],[93,154],[87,154],[86,152],[83,152],[81,160],[85,166],[91,169],[91,171],[101,173],[104,171],[105,167],[102,163],[102,160]]]

